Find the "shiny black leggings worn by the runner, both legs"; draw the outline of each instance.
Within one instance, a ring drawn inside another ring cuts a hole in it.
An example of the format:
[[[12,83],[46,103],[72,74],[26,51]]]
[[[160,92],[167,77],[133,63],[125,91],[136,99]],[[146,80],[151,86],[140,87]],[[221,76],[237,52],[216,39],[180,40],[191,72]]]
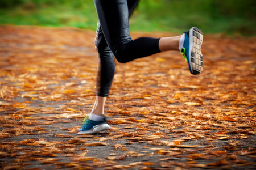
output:
[[[96,95],[108,97],[115,72],[114,58],[125,63],[159,53],[159,39],[141,37],[132,40],[129,15],[138,0],[94,0],[98,25],[94,43],[98,52]]]

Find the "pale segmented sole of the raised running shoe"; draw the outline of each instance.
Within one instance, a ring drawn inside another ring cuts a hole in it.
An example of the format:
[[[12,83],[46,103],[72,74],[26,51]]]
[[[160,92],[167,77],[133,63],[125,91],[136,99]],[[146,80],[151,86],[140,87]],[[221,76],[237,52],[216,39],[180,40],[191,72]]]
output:
[[[203,33],[199,28],[192,27],[189,30],[189,70],[192,74],[200,74],[203,70],[203,54],[201,45],[203,43]]]

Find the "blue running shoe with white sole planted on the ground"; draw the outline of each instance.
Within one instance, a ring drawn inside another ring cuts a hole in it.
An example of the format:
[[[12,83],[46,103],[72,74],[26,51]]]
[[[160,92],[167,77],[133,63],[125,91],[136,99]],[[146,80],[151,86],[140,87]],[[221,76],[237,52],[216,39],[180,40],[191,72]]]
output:
[[[103,121],[93,121],[87,116],[85,117],[84,125],[79,129],[78,134],[94,134],[109,128],[106,118],[104,118]]]

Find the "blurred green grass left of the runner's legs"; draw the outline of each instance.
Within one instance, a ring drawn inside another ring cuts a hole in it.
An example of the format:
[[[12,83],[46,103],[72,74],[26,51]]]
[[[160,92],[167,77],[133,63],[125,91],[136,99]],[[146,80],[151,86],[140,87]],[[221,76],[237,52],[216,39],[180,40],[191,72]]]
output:
[[[92,29],[96,27],[96,23],[97,14],[93,1],[86,3],[80,1],[79,4],[75,1],[66,1],[49,5],[47,3],[36,5],[28,1],[23,5],[0,11],[0,24]]]

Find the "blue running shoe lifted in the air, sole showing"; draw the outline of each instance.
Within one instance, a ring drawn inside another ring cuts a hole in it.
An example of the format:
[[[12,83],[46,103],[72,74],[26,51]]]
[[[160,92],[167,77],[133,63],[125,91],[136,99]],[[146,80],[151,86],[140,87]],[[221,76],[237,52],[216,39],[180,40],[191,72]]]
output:
[[[203,33],[196,27],[192,27],[184,33],[185,40],[180,52],[188,62],[190,73],[194,75],[200,74],[203,70],[203,54],[201,52]]]

